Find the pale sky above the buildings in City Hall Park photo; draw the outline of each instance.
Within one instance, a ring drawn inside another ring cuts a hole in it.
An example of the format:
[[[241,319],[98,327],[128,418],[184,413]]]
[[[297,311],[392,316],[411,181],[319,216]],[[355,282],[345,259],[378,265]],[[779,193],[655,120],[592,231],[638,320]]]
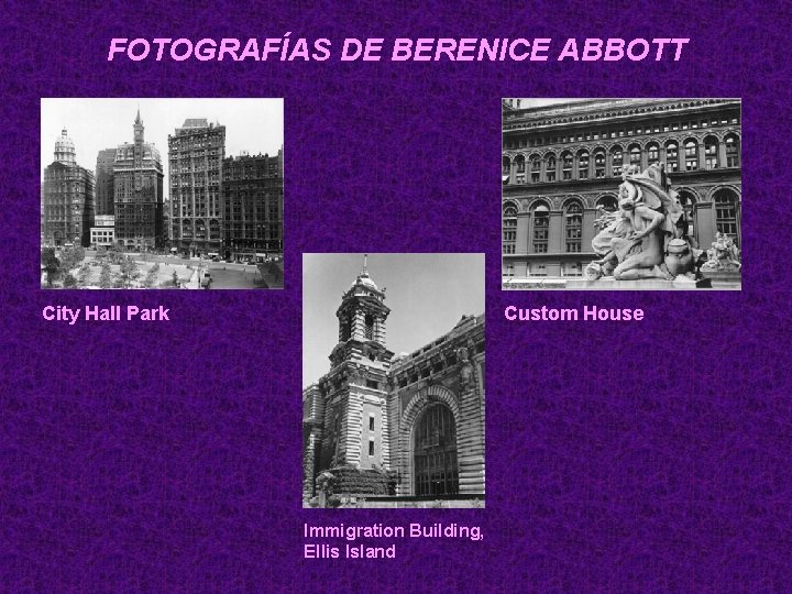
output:
[[[167,138],[187,118],[206,118],[226,127],[226,156],[277,154],[283,145],[283,99],[42,99],[42,170],[54,161],[55,141],[66,128],[77,164],[96,172],[99,151],[132,143],[140,107],[145,142],[160,150],[168,176]],[[167,196],[167,182],[165,196]]]

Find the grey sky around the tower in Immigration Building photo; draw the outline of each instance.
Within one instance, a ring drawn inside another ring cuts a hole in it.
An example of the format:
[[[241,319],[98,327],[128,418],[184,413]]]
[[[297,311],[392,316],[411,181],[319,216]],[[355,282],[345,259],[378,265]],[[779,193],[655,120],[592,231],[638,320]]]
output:
[[[363,254],[302,255],[302,387],[330,371],[341,295],[363,270]],[[369,276],[391,308],[387,346],[410,353],[484,314],[484,254],[369,254]]]

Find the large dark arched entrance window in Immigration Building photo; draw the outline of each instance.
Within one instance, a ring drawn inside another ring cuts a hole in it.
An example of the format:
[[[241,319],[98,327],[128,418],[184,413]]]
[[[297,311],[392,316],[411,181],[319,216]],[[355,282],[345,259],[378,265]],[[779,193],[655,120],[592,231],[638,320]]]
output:
[[[429,405],[413,432],[416,495],[459,493],[457,426],[453,413],[441,403]]]

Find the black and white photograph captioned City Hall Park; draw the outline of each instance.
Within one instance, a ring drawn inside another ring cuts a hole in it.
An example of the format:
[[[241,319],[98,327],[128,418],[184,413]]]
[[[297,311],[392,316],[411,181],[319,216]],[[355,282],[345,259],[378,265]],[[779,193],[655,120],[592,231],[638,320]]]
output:
[[[41,286],[283,288],[283,99],[41,100]]]

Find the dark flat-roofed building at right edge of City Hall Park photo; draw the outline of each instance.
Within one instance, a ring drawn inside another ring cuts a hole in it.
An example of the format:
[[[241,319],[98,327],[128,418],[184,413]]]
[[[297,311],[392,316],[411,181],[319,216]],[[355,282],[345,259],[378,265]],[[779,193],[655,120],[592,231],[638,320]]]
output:
[[[283,148],[223,161],[226,257],[283,253]]]

